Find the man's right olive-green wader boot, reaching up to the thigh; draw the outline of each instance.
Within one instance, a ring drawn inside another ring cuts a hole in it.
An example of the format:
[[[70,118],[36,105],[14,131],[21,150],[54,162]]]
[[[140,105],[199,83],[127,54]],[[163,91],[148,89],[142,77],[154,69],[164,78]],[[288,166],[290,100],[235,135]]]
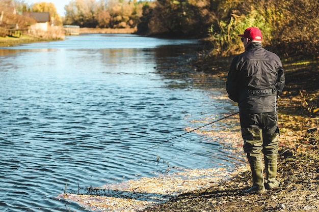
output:
[[[277,177],[277,157],[278,157],[278,135],[279,133],[274,134],[264,134],[263,139],[265,143],[268,143],[264,147],[264,165],[266,172],[265,187],[267,190],[274,189],[279,186],[279,181]]]

